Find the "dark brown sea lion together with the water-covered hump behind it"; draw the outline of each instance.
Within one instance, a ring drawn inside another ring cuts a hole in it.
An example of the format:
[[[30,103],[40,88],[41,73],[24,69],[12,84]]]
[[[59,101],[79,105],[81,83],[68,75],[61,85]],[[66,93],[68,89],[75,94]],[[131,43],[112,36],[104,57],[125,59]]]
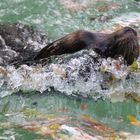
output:
[[[92,49],[100,57],[123,56],[128,65],[139,56],[137,33],[124,27],[114,33],[79,30],[48,44],[47,35],[19,23],[0,24],[0,64],[23,64],[50,57]]]

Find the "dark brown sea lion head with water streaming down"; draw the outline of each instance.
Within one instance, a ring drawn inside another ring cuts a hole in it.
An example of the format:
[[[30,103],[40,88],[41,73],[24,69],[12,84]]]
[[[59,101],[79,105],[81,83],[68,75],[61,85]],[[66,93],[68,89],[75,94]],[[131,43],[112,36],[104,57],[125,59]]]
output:
[[[123,56],[127,65],[131,65],[139,56],[137,32],[131,27],[124,27],[110,34],[109,57]]]

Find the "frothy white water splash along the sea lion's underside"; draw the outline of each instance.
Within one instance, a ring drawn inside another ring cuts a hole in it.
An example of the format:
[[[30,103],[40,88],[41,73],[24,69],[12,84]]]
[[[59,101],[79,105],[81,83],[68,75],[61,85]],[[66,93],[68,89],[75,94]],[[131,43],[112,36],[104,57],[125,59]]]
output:
[[[117,91],[125,92],[125,79],[128,75],[122,59],[99,58],[91,50],[57,57],[51,64],[44,66],[7,66],[0,70],[1,97],[19,90],[43,93],[53,88],[67,95],[106,98]],[[135,87],[131,86],[131,90],[134,91]]]

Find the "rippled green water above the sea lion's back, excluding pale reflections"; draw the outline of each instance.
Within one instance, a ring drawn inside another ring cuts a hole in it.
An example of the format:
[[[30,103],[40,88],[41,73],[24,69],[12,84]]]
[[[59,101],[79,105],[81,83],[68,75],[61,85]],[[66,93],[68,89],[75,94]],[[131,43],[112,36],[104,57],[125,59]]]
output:
[[[96,7],[109,3],[121,5],[119,9],[106,11],[113,17],[129,11],[140,12],[139,5],[134,4],[134,0],[93,2],[89,8],[79,12],[66,10],[58,0],[1,0],[0,21],[33,25],[47,32],[50,38],[60,38],[77,29],[99,30],[110,26],[108,23],[91,20],[104,13],[97,12]]]

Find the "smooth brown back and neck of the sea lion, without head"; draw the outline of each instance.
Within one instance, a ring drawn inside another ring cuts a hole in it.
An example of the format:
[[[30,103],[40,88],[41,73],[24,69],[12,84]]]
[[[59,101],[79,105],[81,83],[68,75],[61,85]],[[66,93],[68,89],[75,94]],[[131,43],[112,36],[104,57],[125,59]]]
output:
[[[61,55],[64,53],[74,53],[82,49],[90,48],[95,49],[99,53],[105,48],[102,45],[105,44],[106,38],[107,36],[102,33],[79,30],[52,42],[43,48],[35,59],[47,58],[52,55]]]

